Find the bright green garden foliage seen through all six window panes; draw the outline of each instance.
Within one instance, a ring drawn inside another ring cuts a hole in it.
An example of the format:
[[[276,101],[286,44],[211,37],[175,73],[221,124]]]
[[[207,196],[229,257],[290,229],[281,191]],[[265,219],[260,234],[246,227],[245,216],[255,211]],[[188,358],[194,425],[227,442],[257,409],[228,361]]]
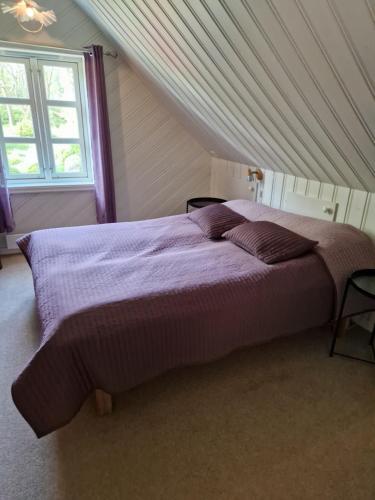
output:
[[[43,81],[47,99],[75,101],[74,73],[71,68],[44,66]],[[0,61],[0,97],[29,98],[25,65]],[[48,106],[48,101],[47,101]],[[74,106],[48,106],[52,138],[79,138]],[[39,174],[36,141],[18,144],[13,138],[33,138],[34,124],[30,104],[0,104],[0,121],[6,137],[6,157],[11,175]],[[9,142],[8,142],[9,141]],[[53,141],[54,142],[54,141]],[[56,171],[77,173],[81,170],[79,144],[53,143]]]

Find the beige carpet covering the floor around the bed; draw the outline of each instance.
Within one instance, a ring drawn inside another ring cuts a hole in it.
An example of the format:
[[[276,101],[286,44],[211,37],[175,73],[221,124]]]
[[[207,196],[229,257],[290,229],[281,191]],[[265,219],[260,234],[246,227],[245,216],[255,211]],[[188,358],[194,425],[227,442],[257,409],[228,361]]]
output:
[[[312,332],[88,401],[36,439],[10,396],[38,343],[30,271],[0,271],[0,498],[375,499],[375,367]]]

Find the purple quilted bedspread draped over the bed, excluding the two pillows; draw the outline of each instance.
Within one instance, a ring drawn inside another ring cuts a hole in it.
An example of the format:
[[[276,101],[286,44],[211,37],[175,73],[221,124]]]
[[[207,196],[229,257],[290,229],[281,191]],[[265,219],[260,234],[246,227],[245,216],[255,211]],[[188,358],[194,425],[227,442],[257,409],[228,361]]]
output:
[[[351,226],[245,200],[227,206],[319,245],[267,265],[208,239],[185,214],[19,240],[41,341],[12,395],[38,437],[69,422],[94,390],[119,393],[175,367],[328,324],[348,274],[374,265],[370,240]]]

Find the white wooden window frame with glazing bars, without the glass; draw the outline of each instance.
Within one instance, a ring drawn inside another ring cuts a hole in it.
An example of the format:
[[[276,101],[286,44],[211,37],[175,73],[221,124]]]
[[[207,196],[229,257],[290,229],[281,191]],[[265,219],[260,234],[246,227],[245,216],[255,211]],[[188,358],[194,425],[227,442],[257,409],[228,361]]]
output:
[[[31,106],[33,119],[33,138],[4,137],[0,123],[0,153],[5,165],[5,175],[11,190],[32,188],[77,188],[93,186],[93,169],[91,144],[89,136],[89,114],[86,93],[86,79],[83,55],[66,54],[57,50],[43,51],[34,49],[13,49],[0,47],[0,61],[19,62],[25,65],[28,99],[8,98],[0,96],[0,104],[27,104]],[[63,66],[73,70],[75,82],[75,101],[48,100],[44,86],[43,67]],[[79,139],[59,139],[51,136],[48,106],[74,107],[77,110]],[[10,175],[7,165],[5,143],[36,144],[40,174]],[[82,171],[80,173],[58,173],[55,169],[53,144],[79,144],[81,150]]]

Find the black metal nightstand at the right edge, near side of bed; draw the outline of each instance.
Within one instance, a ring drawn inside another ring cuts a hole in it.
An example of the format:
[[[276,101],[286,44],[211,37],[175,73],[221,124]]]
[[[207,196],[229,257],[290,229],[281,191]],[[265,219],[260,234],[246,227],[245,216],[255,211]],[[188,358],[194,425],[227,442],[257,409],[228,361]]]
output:
[[[350,356],[349,354],[344,354],[342,352],[335,351],[336,340],[338,337],[342,319],[349,318],[351,316],[356,316],[357,314],[361,314],[361,313],[345,314],[345,306],[347,305],[347,300],[350,293],[359,293],[366,299],[366,305],[363,311],[361,311],[361,313],[375,311],[375,269],[361,269],[360,271],[355,271],[348,278],[340,307],[339,316],[337,318],[335,331],[333,334],[332,345],[329,355],[333,356],[334,354],[338,354],[339,356],[344,356],[346,358],[358,359],[359,361],[365,361],[366,363],[375,364],[375,347],[374,347],[375,325],[373,327],[369,341],[369,345],[371,346],[372,349],[373,360],[358,358],[356,356]]]

